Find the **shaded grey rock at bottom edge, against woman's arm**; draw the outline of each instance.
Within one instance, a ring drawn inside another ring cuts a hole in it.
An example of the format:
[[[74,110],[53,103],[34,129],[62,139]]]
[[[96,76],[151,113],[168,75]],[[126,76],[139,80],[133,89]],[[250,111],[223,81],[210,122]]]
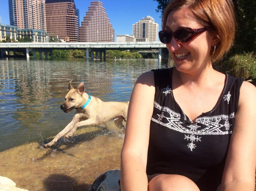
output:
[[[94,180],[91,191],[120,191],[118,180],[120,180],[120,169],[109,170]]]

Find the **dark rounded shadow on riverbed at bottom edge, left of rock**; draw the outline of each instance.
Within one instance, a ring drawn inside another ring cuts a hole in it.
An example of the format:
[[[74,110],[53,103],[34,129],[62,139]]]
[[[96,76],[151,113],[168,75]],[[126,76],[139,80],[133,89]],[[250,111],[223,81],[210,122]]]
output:
[[[75,179],[64,174],[51,174],[43,180],[46,191],[85,191],[91,185],[78,184]]]

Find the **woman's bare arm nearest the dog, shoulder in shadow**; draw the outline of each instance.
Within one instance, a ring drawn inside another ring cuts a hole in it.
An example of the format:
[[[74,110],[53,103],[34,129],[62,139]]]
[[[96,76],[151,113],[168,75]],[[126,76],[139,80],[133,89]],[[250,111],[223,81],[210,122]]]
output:
[[[149,125],[154,107],[154,72],[142,74],[130,99],[124,145],[121,152],[121,190],[147,190]]]

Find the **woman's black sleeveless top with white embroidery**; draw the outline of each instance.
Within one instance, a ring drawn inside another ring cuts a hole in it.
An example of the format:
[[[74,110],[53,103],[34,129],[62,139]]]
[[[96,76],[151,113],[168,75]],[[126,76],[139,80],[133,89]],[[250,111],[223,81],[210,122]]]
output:
[[[243,80],[226,74],[218,103],[193,124],[173,97],[172,69],[152,70],[156,92],[147,174],[179,174],[193,180],[201,191],[216,191],[221,183]]]

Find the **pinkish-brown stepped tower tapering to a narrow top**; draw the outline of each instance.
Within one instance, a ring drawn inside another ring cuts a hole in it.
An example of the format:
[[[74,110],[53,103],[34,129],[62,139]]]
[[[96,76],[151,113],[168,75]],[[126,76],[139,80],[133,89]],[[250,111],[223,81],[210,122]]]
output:
[[[79,26],[80,42],[114,42],[115,30],[102,2],[92,1]]]

